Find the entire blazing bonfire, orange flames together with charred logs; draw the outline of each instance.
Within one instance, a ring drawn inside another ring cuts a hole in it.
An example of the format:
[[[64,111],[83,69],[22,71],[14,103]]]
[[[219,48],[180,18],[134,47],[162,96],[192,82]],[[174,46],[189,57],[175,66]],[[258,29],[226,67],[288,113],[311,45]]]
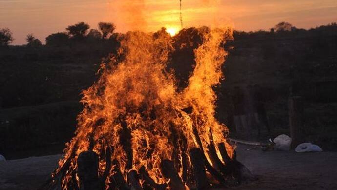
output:
[[[128,32],[100,78],[83,91],[74,138],[41,189],[209,189],[238,184],[244,168],[215,118],[230,29],[198,28],[188,86],[167,69],[173,38]]]

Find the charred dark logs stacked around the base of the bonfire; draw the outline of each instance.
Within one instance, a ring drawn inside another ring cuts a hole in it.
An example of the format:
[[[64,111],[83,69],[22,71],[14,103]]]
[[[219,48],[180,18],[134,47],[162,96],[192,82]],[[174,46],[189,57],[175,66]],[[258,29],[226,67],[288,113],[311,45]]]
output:
[[[233,158],[229,156],[225,143],[216,145],[221,154],[219,157],[212,140],[207,146],[207,151],[204,151],[196,128],[194,135],[199,147],[192,148],[187,152],[190,155],[192,182],[184,181],[178,175],[174,161],[171,160],[163,160],[160,165],[161,174],[168,183],[156,183],[144,166],[139,171],[129,170],[127,179],[125,179],[118,161],[111,157],[113,148],[107,147],[105,150],[105,171],[101,176],[98,173],[97,153],[89,150],[79,154],[77,170],[76,173],[72,172],[71,174],[72,184],[68,186],[68,190],[185,190],[186,186],[190,189],[208,190],[216,187],[236,186],[243,181],[255,179],[249,169],[236,160],[235,155]],[[211,162],[207,159],[206,154]],[[132,163],[132,161],[128,161],[128,163]],[[62,190],[61,179],[63,175],[64,172],[59,172],[58,176],[54,176],[39,190]]]

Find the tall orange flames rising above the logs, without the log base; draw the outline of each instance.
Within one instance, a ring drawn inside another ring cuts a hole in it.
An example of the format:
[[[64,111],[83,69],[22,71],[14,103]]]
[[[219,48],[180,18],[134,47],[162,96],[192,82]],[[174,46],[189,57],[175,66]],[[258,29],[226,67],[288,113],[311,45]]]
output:
[[[177,89],[174,73],[166,70],[174,50],[168,33],[137,31],[121,37],[118,54],[101,65],[100,79],[83,92],[84,109],[78,116],[76,136],[67,144],[54,173],[71,162],[63,189],[76,172],[78,155],[91,148],[100,156],[100,175],[109,146],[114,148],[112,159],[119,162],[125,178],[130,169],[139,171],[145,166],[157,183],[164,183],[159,169],[162,160],[174,161],[182,178],[184,167],[190,169],[188,152],[199,147],[195,130],[204,151],[213,140],[225,142],[228,129],[214,117],[213,87],[223,78],[221,68],[227,52],[222,44],[232,33],[207,27],[198,32],[203,43],[194,50],[196,66],[184,90]],[[233,148],[226,147],[231,155]]]

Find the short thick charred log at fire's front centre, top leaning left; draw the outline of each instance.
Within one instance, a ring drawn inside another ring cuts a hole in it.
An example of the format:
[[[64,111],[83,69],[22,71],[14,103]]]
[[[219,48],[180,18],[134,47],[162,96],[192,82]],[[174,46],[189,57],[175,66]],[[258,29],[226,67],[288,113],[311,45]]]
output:
[[[169,188],[171,190],[184,190],[185,186],[181,181],[177,170],[174,168],[174,163],[170,160],[163,160],[160,164],[161,173],[169,181]]]

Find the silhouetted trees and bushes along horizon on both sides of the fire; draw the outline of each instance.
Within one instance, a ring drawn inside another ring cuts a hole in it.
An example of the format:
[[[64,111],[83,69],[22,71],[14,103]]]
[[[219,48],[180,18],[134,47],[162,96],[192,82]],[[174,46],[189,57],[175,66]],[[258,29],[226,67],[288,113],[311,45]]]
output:
[[[64,32],[57,32],[50,34],[45,38],[47,46],[67,46],[76,42],[97,42],[97,41],[116,41],[117,34],[115,34],[116,26],[110,22],[99,22],[98,29],[90,29],[90,26],[85,22],[78,22],[74,25],[69,25],[65,28]],[[296,28],[291,23],[280,22],[276,24],[269,31],[234,31],[234,38],[236,40],[248,38],[266,38],[266,37],[308,37],[317,35],[336,35],[337,23],[318,26],[311,29]],[[14,41],[14,37],[10,29],[0,28],[0,47],[6,47]],[[42,42],[37,39],[33,34],[28,34],[26,37],[25,46],[39,47]]]

